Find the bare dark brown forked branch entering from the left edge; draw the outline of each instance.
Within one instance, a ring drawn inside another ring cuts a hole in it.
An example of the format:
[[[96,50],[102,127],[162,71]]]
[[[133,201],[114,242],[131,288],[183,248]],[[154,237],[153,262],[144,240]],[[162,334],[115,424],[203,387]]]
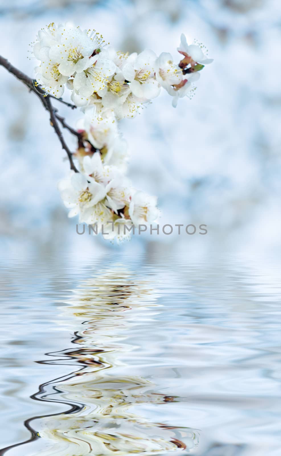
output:
[[[26,87],[28,87],[31,92],[36,93],[37,97],[40,98],[40,101],[43,104],[44,108],[50,114],[51,125],[54,128],[54,130],[56,132],[56,135],[58,136],[58,138],[59,138],[59,140],[61,142],[61,147],[62,147],[62,149],[64,149],[66,151],[66,154],[68,156],[68,160],[69,160],[69,163],[70,163],[70,168],[73,171],[75,171],[75,172],[79,172],[77,170],[76,166],[74,165],[74,162],[72,160],[72,152],[69,150],[68,146],[66,145],[66,142],[65,142],[65,140],[64,140],[64,138],[62,136],[61,130],[60,130],[59,125],[57,123],[57,119],[61,122],[62,126],[64,128],[67,128],[73,135],[76,135],[78,138],[80,138],[80,134],[76,130],[72,129],[72,127],[68,126],[65,123],[63,117],[61,117],[58,114],[56,114],[56,109],[54,109],[52,104],[51,104],[51,98],[55,98],[55,97],[52,97],[49,94],[46,94],[40,86],[35,87],[35,85],[34,85],[35,81],[33,81],[31,78],[26,76],[26,74],[22,73],[20,70],[15,68],[10,62],[8,62],[7,59],[5,59],[2,56],[0,56],[0,65],[2,67],[5,67],[6,70],[9,71],[9,73],[13,74],[17,79],[19,79],[22,83],[24,83],[26,85]],[[71,104],[68,104],[68,103],[64,102],[60,98],[57,98],[57,99],[58,99],[58,101],[61,101],[62,103],[70,105],[70,107],[72,107]]]

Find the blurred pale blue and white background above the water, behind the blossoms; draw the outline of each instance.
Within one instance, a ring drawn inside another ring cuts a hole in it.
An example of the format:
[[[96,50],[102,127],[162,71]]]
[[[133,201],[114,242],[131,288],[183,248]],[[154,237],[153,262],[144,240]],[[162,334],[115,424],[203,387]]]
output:
[[[184,32],[215,62],[177,109],[162,93],[120,124],[133,185],[158,196],[161,224],[208,234],[142,235],[112,246],[78,236],[56,189],[68,162],[34,94],[0,67],[0,233],[4,251],[233,251],[280,255],[281,5],[278,0],[14,0],[0,2],[0,53],[34,77],[29,43],[50,22],[95,28],[122,51],[171,52]],[[67,97],[66,97],[67,98]],[[57,102],[54,101],[54,104]],[[60,113],[75,125],[77,109]],[[65,132],[74,150],[75,140]]]

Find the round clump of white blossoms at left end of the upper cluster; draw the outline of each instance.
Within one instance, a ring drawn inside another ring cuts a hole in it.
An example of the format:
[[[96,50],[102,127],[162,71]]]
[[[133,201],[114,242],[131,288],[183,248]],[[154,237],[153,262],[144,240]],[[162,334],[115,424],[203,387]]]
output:
[[[94,31],[89,35],[88,31],[70,24],[56,27],[52,23],[38,32],[37,40],[33,52],[41,60],[37,69],[38,82],[57,97],[62,95],[69,77],[75,93],[87,98],[102,90],[108,77],[115,72],[112,61],[99,58],[105,41]],[[86,104],[85,100],[76,101]]]

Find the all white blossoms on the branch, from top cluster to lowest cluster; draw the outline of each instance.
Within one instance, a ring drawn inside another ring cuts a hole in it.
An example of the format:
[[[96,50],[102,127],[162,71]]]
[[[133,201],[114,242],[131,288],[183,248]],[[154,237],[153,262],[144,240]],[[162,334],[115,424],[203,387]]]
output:
[[[123,53],[96,31],[54,23],[39,31],[33,44],[41,62],[37,83],[56,98],[67,87],[84,113],[74,154],[80,170],[59,183],[62,200],[69,217],[79,215],[80,223],[97,225],[104,238],[119,242],[130,237],[124,224],[157,221],[157,198],[134,189],[125,176],[128,152],[118,120],[135,117],[161,87],[172,96],[174,107],[179,98],[192,95],[199,72],[212,59],[202,44],[188,45],[184,35],[177,50],[179,64],[168,52],[159,57],[151,50]]]

